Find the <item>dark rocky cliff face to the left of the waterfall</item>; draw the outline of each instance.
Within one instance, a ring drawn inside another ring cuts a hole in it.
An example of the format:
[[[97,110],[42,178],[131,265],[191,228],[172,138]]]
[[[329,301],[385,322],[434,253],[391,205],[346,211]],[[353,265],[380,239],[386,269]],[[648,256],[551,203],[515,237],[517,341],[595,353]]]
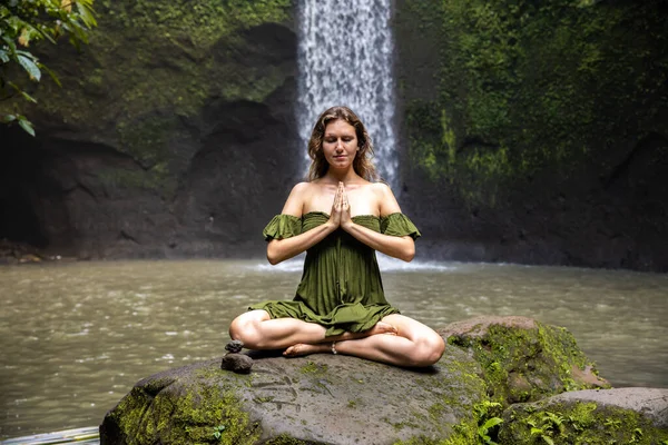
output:
[[[82,258],[258,253],[301,164],[291,2],[96,9],[81,52],[42,48],[63,88],[36,91],[37,138],[0,128],[0,238]]]

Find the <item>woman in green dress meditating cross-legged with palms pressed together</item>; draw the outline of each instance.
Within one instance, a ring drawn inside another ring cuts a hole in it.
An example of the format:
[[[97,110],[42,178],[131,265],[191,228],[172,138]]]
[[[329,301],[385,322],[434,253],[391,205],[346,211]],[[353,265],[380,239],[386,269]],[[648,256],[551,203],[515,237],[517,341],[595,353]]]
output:
[[[275,265],[307,251],[292,301],[265,301],[232,322],[250,349],[295,357],[346,354],[399,366],[429,366],[444,342],[385,299],[375,250],[410,261],[418,228],[401,212],[370,160],[371,138],[346,107],[323,112],[308,141],[308,182],[297,184],[264,229]]]

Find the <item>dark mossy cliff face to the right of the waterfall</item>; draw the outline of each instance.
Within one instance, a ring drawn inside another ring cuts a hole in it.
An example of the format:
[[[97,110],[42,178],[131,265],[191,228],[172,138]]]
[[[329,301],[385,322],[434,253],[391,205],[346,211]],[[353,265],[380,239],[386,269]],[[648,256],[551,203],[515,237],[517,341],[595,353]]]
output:
[[[404,201],[441,258],[668,270],[660,2],[396,2]]]

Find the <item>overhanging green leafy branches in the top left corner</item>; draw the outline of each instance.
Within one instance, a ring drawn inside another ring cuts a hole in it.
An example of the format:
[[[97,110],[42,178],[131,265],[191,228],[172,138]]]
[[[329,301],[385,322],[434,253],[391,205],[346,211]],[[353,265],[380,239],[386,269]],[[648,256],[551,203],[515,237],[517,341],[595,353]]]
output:
[[[94,0],[9,0],[0,6],[0,100],[22,97],[29,102],[37,100],[27,91],[29,81],[39,82],[42,71],[60,85],[29,47],[40,40],[56,43],[61,37],[78,47],[88,42],[88,30],[97,26],[92,11]],[[32,123],[20,112],[0,115],[3,123],[17,122],[35,136]]]

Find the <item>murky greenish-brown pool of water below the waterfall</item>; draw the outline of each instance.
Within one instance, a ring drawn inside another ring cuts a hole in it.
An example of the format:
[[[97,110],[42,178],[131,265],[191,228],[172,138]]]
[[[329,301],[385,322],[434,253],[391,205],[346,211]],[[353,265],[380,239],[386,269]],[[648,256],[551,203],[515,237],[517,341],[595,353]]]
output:
[[[434,328],[532,317],[573,333],[615,386],[668,387],[668,275],[380,264],[387,299]],[[0,439],[98,425],[143,377],[222,356],[229,322],[299,277],[299,259],[0,267]]]

